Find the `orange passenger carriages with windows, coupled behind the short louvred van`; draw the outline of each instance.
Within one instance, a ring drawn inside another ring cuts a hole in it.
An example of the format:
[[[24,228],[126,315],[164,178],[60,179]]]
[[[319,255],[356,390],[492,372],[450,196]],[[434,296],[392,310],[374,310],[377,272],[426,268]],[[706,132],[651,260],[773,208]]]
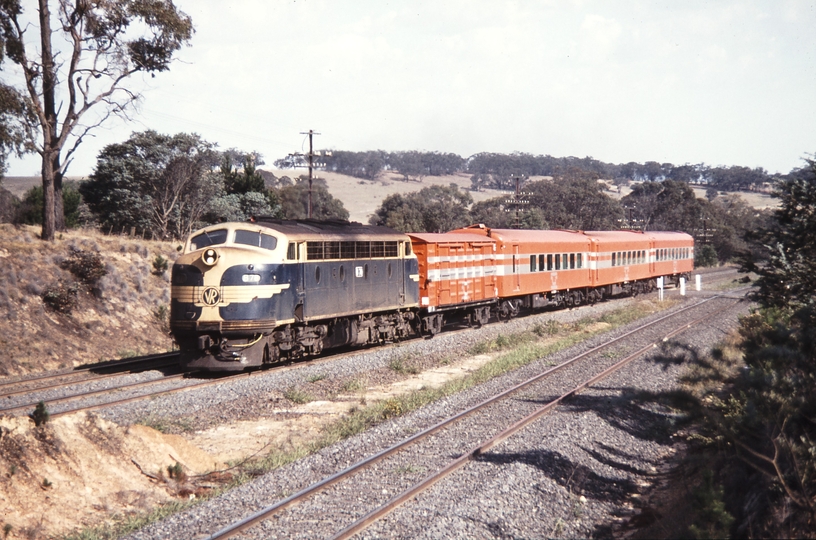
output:
[[[499,315],[521,307],[578,305],[615,292],[645,292],[654,278],[675,283],[693,270],[694,240],[685,233],[535,231],[472,225],[452,231],[496,241]]]

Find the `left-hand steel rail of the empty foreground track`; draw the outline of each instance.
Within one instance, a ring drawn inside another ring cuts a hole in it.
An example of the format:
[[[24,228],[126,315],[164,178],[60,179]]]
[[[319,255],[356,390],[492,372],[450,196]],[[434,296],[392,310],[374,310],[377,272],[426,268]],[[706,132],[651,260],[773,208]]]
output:
[[[560,370],[572,365],[573,363],[575,363],[575,362],[577,362],[577,361],[579,361],[579,360],[581,360],[583,358],[586,358],[587,356],[595,354],[595,353],[597,353],[597,352],[599,352],[599,351],[601,351],[601,350],[603,350],[603,349],[605,349],[605,348],[607,348],[607,347],[609,347],[611,345],[614,345],[615,343],[617,343],[619,341],[622,341],[623,339],[626,339],[629,336],[631,336],[631,335],[633,335],[633,334],[635,334],[637,332],[641,332],[641,331],[643,331],[643,330],[645,330],[647,328],[650,328],[650,327],[652,327],[652,326],[654,326],[656,324],[659,324],[659,323],[661,323],[661,322],[663,322],[663,321],[665,321],[667,319],[676,317],[677,315],[679,315],[681,313],[684,313],[685,311],[688,311],[688,310],[694,309],[696,307],[699,307],[699,306],[701,306],[701,305],[703,305],[703,304],[705,304],[707,302],[710,302],[710,301],[712,301],[712,300],[714,300],[716,298],[719,298],[719,297],[714,296],[714,297],[706,298],[704,300],[701,300],[701,301],[699,301],[699,302],[697,302],[695,304],[689,305],[689,306],[683,306],[683,307],[677,309],[676,311],[674,311],[674,312],[672,312],[670,314],[659,317],[659,318],[657,318],[657,319],[655,319],[653,321],[650,321],[650,322],[648,322],[646,324],[638,326],[637,328],[635,328],[633,330],[630,330],[630,331],[628,331],[628,332],[626,332],[626,333],[624,333],[624,334],[622,334],[622,335],[620,335],[620,336],[618,336],[616,338],[608,340],[608,341],[602,343],[601,345],[593,347],[592,349],[589,349],[589,350],[587,350],[587,351],[585,351],[585,352],[583,352],[583,353],[581,353],[581,354],[579,354],[579,355],[577,355],[577,356],[575,356],[573,358],[570,358],[570,359],[562,362],[561,364],[559,364],[557,366],[554,366],[554,367],[552,367],[552,368],[550,368],[550,369],[548,369],[548,370],[546,370],[546,371],[544,371],[542,373],[539,373],[538,375],[535,375],[535,376],[531,377],[530,379],[527,379],[526,381],[524,381],[522,383],[519,383],[519,384],[513,386],[512,388],[509,388],[509,389],[507,389],[507,390],[505,390],[505,391],[503,391],[503,392],[501,392],[499,394],[496,394],[495,396],[492,396],[492,397],[482,401],[481,403],[478,403],[477,405],[474,405],[473,407],[465,409],[465,410],[459,412],[458,414],[455,414],[455,415],[453,415],[451,417],[448,417],[448,418],[442,420],[441,422],[439,422],[439,423],[437,423],[437,424],[435,424],[435,425],[433,425],[433,426],[431,426],[429,428],[426,428],[426,429],[424,429],[422,431],[419,431],[419,432],[415,433],[414,435],[412,435],[411,437],[409,437],[407,439],[404,439],[403,441],[401,441],[401,442],[399,442],[399,443],[397,443],[397,444],[395,444],[395,445],[393,445],[393,446],[391,446],[389,448],[381,450],[380,452],[377,452],[376,454],[373,454],[373,455],[369,456],[366,459],[358,461],[357,463],[354,463],[354,464],[350,465],[349,467],[347,467],[347,468],[345,468],[345,469],[343,469],[343,470],[341,470],[341,471],[339,471],[339,472],[337,472],[337,473],[335,473],[335,474],[333,474],[331,476],[328,476],[328,477],[324,478],[323,480],[321,480],[319,482],[316,482],[316,483],[302,489],[301,491],[298,491],[297,493],[295,493],[293,495],[290,495],[289,497],[287,497],[285,499],[282,499],[282,500],[280,500],[280,501],[278,501],[278,502],[276,502],[274,504],[271,504],[271,505],[269,505],[269,506],[267,506],[265,508],[262,508],[261,510],[255,512],[254,514],[252,514],[252,515],[250,515],[250,516],[248,516],[248,517],[246,517],[246,518],[244,518],[244,519],[242,519],[240,521],[237,521],[237,522],[235,522],[235,523],[233,523],[231,525],[228,525],[227,527],[224,527],[221,530],[213,533],[212,535],[210,535],[208,537],[208,539],[209,540],[219,540],[219,539],[222,539],[222,538],[230,538],[232,536],[235,536],[236,534],[238,534],[238,533],[240,533],[240,532],[242,532],[242,531],[244,531],[246,529],[249,529],[250,527],[256,525],[257,523],[259,523],[261,521],[264,521],[265,519],[272,516],[273,514],[279,512],[279,511],[281,511],[281,510],[283,510],[283,509],[285,509],[285,508],[287,508],[287,507],[289,507],[291,505],[294,505],[294,504],[300,502],[301,500],[303,500],[303,499],[305,499],[305,498],[307,498],[307,497],[309,497],[309,496],[311,496],[311,495],[313,495],[315,493],[318,493],[319,491],[322,491],[323,489],[337,483],[338,481],[340,481],[340,480],[342,480],[342,479],[344,479],[346,477],[349,477],[349,476],[351,476],[351,475],[353,475],[353,474],[355,474],[357,472],[360,472],[360,471],[370,467],[371,465],[385,459],[386,457],[388,457],[388,456],[390,456],[392,454],[395,454],[395,453],[407,448],[408,446],[412,445],[413,443],[415,443],[415,442],[417,442],[417,441],[419,441],[419,440],[421,440],[423,438],[426,438],[426,437],[436,433],[437,431],[440,431],[441,429],[443,429],[443,428],[457,422],[458,420],[461,420],[462,418],[465,418],[465,417],[479,411],[480,409],[483,409],[484,407],[487,407],[488,405],[491,405],[491,404],[493,404],[493,403],[495,403],[495,402],[497,402],[497,401],[499,401],[501,399],[506,398],[510,394],[513,394],[513,393],[515,393],[515,392],[517,392],[517,391],[519,391],[519,390],[521,390],[521,389],[523,389],[523,388],[525,388],[525,387],[527,387],[527,386],[529,386],[531,384],[534,384],[534,383],[538,382],[539,380],[541,380],[541,379],[543,379],[543,378],[545,378],[545,377],[547,377],[547,376],[549,376],[549,375],[551,375],[551,374],[553,374],[553,373],[555,373],[557,371],[560,371]],[[651,346],[650,346],[650,348],[651,348]]]

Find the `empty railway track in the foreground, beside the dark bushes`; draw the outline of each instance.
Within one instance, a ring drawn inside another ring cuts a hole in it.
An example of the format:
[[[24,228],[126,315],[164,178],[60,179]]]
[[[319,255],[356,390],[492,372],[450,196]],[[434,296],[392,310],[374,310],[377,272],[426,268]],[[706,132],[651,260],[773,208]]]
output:
[[[731,291],[731,294],[736,292],[738,291]],[[313,535],[332,538],[353,536],[406,501],[428,490],[474,458],[496,447],[514,433],[523,430],[559,404],[611,376],[633,360],[654,351],[661,344],[689,328],[731,309],[737,302],[739,300],[735,301],[724,295],[704,298],[647,324],[640,325],[466,410],[449,416],[301,489],[294,495],[281,498],[274,504],[223,527],[211,534],[209,538],[213,540],[231,538],[239,534],[246,534],[247,537],[253,538],[266,537],[273,532],[271,528],[264,529],[264,523],[271,523],[268,521],[270,518],[275,518],[274,533],[278,535]],[[715,304],[724,305],[712,307]],[[674,322],[681,316],[689,317],[689,314],[695,311],[700,313],[695,314],[691,320],[681,323]],[[645,345],[624,346],[635,337],[642,340],[644,334],[648,335],[648,343]],[[605,353],[610,350],[623,350],[624,348],[626,352],[621,353],[623,358],[620,360],[617,360],[617,355],[607,354],[605,356]],[[535,397],[530,397],[530,395]],[[500,412],[497,416],[497,409],[505,412]],[[488,411],[492,411],[492,416],[488,414]],[[487,420],[480,420],[482,416]],[[510,425],[497,427],[495,422],[497,417]],[[459,433],[467,433],[467,436],[464,438],[446,436],[451,429],[462,424],[468,427],[457,427],[456,429],[459,430]],[[455,458],[451,459],[450,456],[455,456]],[[386,480],[385,477],[389,475],[383,474],[383,471],[401,467],[392,462],[425,463],[432,472],[414,483],[398,480],[395,486],[394,480]],[[357,487],[360,485],[364,487]],[[387,494],[389,497],[379,494]],[[322,510],[317,511],[316,508]],[[315,515],[319,516],[317,521],[322,524],[319,530],[315,528],[317,525],[311,523],[315,521]],[[307,532],[297,529],[300,526],[298,523],[304,520],[310,522],[312,527]],[[295,528],[291,532],[283,532],[289,531],[286,528],[289,525]]]

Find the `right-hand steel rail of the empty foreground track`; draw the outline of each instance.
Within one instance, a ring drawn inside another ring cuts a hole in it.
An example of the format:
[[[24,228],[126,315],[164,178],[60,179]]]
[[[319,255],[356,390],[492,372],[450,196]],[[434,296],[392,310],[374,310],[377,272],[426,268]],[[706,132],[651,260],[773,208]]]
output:
[[[576,386],[575,388],[573,388],[569,392],[566,392],[566,393],[562,394],[561,396],[559,396],[558,398],[550,401],[546,405],[543,405],[542,407],[539,407],[538,409],[536,409],[535,411],[533,411],[529,415],[527,415],[524,418],[522,418],[521,420],[518,420],[517,422],[515,422],[513,425],[511,425],[510,427],[508,427],[507,429],[505,429],[504,431],[502,431],[498,435],[492,437],[491,439],[487,440],[484,443],[477,444],[476,446],[472,447],[470,450],[465,452],[463,455],[461,455],[457,459],[455,459],[455,460],[451,461],[450,463],[448,463],[445,467],[443,467],[443,468],[439,469],[438,471],[428,475],[427,477],[425,477],[423,480],[421,480],[417,484],[414,484],[413,486],[411,486],[407,490],[405,490],[402,493],[400,493],[400,494],[396,495],[395,497],[391,498],[388,502],[386,502],[381,507],[376,508],[375,510],[372,510],[371,512],[366,514],[365,516],[359,518],[357,521],[355,521],[354,523],[352,523],[348,527],[344,528],[342,531],[340,531],[337,534],[335,534],[334,536],[332,536],[331,540],[344,540],[344,539],[350,538],[351,536],[357,534],[358,532],[366,529],[369,525],[371,525],[372,523],[374,523],[375,521],[377,521],[381,517],[389,514],[390,512],[392,512],[393,510],[398,508],[400,505],[402,505],[404,502],[406,502],[409,499],[415,497],[419,493],[421,493],[423,491],[426,491],[427,489],[429,489],[431,486],[433,486],[434,484],[436,484],[440,480],[444,479],[445,477],[447,477],[448,475],[450,475],[451,473],[453,473],[457,469],[464,466],[470,460],[474,459],[475,457],[478,457],[481,454],[484,454],[485,452],[487,452],[491,448],[497,446],[498,444],[500,444],[501,442],[503,442],[504,440],[506,440],[510,436],[512,436],[512,435],[516,434],[517,432],[521,431],[522,429],[527,427],[532,422],[538,420],[540,417],[542,417],[545,414],[547,414],[548,412],[552,411],[556,406],[558,406],[562,402],[566,401],[570,397],[572,397],[572,396],[576,395],[577,393],[579,393],[581,390],[583,390],[583,389],[587,388],[588,386],[590,386],[592,384],[595,384],[596,382],[601,381],[601,380],[605,379],[606,377],[608,377],[609,375],[619,371],[620,369],[622,369],[626,365],[630,364],[633,360],[635,360],[635,359],[639,358],[640,356],[642,356],[643,354],[655,349],[661,342],[668,341],[672,337],[685,332],[686,330],[688,330],[692,326],[694,326],[696,324],[699,324],[700,322],[705,321],[707,319],[710,319],[710,318],[714,317],[715,315],[718,315],[719,313],[730,309],[734,305],[736,305],[736,303],[732,304],[730,306],[726,306],[726,307],[724,307],[724,308],[722,308],[720,310],[717,310],[714,313],[711,313],[711,314],[708,314],[708,315],[706,315],[704,317],[696,319],[696,320],[694,320],[694,321],[692,321],[690,323],[682,325],[680,328],[677,328],[677,329],[669,332],[665,336],[663,336],[663,338],[661,338],[661,339],[659,339],[657,341],[653,341],[652,343],[649,343],[648,345],[646,345],[644,347],[641,347],[637,351],[631,353],[627,357],[623,358],[622,360],[618,361],[617,363],[615,363],[612,366],[608,367],[607,369],[603,370],[601,373],[599,373],[599,374],[591,377],[590,379],[587,379],[586,381],[582,382],[581,384],[579,384],[578,386]]]

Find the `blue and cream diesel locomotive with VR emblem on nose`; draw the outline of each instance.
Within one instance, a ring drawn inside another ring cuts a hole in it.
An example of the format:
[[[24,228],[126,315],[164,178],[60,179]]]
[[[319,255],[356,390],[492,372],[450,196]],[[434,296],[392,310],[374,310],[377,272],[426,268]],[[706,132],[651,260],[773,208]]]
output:
[[[410,239],[386,227],[222,223],[173,266],[170,329],[185,367],[243,370],[413,334],[418,281]]]

